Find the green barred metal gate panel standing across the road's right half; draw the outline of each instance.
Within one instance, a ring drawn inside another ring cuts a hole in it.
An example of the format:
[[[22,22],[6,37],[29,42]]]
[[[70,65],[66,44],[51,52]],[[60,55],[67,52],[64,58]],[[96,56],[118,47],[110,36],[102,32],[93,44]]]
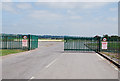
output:
[[[64,37],[65,51],[100,51],[99,37]]]

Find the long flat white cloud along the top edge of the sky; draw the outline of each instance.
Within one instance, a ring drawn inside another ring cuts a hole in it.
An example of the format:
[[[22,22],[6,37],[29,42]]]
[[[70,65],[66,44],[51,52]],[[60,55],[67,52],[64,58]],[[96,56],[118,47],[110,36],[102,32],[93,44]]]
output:
[[[49,2],[49,3],[43,3],[44,5],[50,7],[50,8],[63,8],[63,9],[96,9],[103,7],[109,3],[106,2]],[[41,3],[35,3],[35,5],[40,6]]]

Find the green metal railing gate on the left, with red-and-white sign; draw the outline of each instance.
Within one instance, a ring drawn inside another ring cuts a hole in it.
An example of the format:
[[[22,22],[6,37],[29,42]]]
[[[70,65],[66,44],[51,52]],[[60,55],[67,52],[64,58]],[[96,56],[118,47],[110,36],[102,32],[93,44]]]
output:
[[[31,50],[38,48],[38,36],[36,35],[2,34],[1,38],[0,49]],[[26,40],[26,46],[23,46],[24,40]]]

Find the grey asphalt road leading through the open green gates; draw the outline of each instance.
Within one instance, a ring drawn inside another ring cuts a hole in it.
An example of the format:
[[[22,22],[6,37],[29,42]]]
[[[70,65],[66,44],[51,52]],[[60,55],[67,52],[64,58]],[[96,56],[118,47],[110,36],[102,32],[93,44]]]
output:
[[[63,42],[39,42],[39,48],[2,59],[3,79],[117,79],[118,70],[96,53],[68,53]]]

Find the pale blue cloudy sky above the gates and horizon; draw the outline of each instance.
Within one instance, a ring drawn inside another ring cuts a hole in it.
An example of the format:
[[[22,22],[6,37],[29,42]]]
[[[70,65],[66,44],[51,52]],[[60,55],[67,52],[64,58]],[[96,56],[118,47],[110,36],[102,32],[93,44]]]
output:
[[[117,2],[5,2],[3,33],[117,35]]]

